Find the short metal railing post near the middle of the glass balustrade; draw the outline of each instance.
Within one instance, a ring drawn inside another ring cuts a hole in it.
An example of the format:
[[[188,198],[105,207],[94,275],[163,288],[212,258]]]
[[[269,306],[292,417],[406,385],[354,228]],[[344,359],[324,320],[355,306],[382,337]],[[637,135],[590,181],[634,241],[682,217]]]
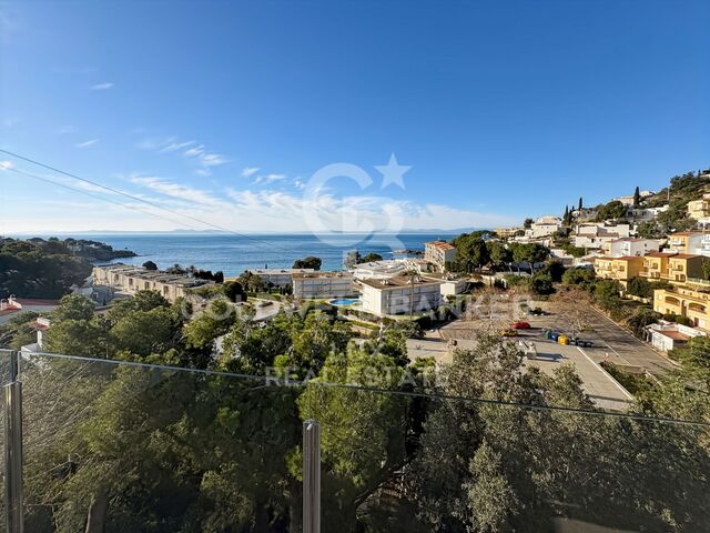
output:
[[[303,533],[321,533],[321,425],[303,423]]]

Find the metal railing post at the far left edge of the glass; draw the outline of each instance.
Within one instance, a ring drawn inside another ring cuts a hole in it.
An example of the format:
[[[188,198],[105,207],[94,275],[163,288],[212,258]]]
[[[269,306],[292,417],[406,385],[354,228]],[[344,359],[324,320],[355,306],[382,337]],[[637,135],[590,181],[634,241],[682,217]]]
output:
[[[22,382],[18,380],[19,352],[10,353],[10,379],[3,385],[4,509],[8,533],[23,533],[22,515]]]

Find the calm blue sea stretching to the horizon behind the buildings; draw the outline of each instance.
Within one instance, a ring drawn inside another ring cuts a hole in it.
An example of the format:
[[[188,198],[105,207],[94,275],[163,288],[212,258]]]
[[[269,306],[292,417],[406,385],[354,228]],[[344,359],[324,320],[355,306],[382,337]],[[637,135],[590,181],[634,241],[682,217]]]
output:
[[[62,235],[63,237],[63,235]],[[339,270],[347,251],[356,249],[363,255],[379,253],[393,258],[393,250],[424,250],[424,243],[436,239],[452,239],[449,233],[406,234],[270,234],[239,237],[232,234],[72,234],[111,244],[115,250],[132,250],[138,258],[119,261],[143,264],[154,261],[160,269],[180,263],[204,270],[221,270],[225,275],[239,275],[246,269],[291,268],[294,260],[315,255],[323,260],[323,270]]]

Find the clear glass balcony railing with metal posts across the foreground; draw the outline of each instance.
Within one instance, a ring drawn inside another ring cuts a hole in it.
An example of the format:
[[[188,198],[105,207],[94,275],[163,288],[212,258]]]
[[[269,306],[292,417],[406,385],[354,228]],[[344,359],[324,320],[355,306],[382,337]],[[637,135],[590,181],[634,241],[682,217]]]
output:
[[[703,423],[516,403],[514,382],[468,398],[342,374],[357,369],[332,383],[16,354],[0,353],[12,533],[710,524]]]

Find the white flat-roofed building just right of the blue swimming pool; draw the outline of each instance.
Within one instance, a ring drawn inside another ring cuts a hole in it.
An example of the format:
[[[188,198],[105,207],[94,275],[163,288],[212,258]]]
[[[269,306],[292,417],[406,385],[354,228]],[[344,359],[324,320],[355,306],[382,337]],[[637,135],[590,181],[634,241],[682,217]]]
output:
[[[442,305],[442,281],[422,276],[398,276],[388,280],[363,280],[362,310],[383,315],[435,311]]]

